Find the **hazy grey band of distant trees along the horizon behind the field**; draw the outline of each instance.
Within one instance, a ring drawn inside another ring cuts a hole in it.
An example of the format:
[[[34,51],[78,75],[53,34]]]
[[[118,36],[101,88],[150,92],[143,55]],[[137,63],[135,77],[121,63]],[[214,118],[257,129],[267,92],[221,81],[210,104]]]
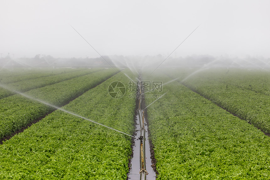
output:
[[[0,59],[0,68],[92,68],[105,67],[109,68],[132,68],[132,67],[157,67],[162,63],[167,55],[156,56],[103,56],[97,58],[79,57],[79,58],[55,58],[50,55],[37,54],[33,58],[14,59],[10,56]],[[191,55],[186,57],[168,57],[160,67],[183,67],[183,68],[201,68],[201,67],[219,67],[219,68],[256,68],[269,69],[270,58],[250,57],[245,58],[220,56],[213,57],[210,55]]]

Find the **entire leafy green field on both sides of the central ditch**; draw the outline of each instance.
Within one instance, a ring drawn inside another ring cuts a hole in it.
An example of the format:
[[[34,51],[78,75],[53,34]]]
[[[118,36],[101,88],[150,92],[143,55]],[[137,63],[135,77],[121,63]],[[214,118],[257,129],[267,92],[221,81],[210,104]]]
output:
[[[266,70],[3,72],[0,139],[8,140],[0,145],[0,179],[128,179],[131,158],[139,161],[130,84],[140,78],[163,84],[145,92],[151,96],[142,105],[156,179],[270,179]],[[125,86],[121,97],[112,92],[117,81]]]

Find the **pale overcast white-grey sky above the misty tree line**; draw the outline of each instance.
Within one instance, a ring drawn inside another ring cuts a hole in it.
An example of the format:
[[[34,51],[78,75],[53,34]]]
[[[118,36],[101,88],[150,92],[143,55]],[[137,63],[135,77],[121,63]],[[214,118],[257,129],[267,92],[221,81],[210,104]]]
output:
[[[192,54],[270,57],[270,1],[1,0],[5,57]]]

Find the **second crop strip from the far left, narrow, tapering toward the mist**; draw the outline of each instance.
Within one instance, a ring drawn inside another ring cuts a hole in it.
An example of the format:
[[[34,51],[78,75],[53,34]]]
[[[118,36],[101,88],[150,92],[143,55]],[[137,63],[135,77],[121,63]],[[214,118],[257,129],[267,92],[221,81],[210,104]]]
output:
[[[101,68],[95,68],[95,69],[85,69],[81,71],[75,71],[75,72],[70,72],[70,73],[64,73],[64,74],[58,74],[58,75],[53,75],[53,76],[48,76],[48,77],[42,77],[42,78],[37,78],[37,79],[29,79],[29,80],[23,80],[19,81],[16,83],[10,83],[6,86],[8,86],[9,89],[11,90],[16,90],[19,92],[26,92],[31,89],[36,89],[40,87],[44,87],[46,85],[52,85],[55,83],[59,83],[61,81],[65,81],[68,79],[76,78],[79,76],[83,76],[86,74],[90,74],[96,71],[100,71]],[[32,76],[35,76],[36,74],[32,74]],[[4,89],[0,88],[0,99],[3,99],[5,97],[14,95],[15,93]]]

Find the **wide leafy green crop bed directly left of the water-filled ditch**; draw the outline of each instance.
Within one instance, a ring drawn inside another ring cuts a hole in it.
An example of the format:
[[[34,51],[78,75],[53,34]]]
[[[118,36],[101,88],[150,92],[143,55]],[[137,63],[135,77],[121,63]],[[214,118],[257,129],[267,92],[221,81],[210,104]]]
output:
[[[108,94],[118,80],[127,87],[116,74],[63,108],[132,134],[135,99]],[[126,180],[130,154],[131,137],[57,110],[0,145],[0,179]]]

